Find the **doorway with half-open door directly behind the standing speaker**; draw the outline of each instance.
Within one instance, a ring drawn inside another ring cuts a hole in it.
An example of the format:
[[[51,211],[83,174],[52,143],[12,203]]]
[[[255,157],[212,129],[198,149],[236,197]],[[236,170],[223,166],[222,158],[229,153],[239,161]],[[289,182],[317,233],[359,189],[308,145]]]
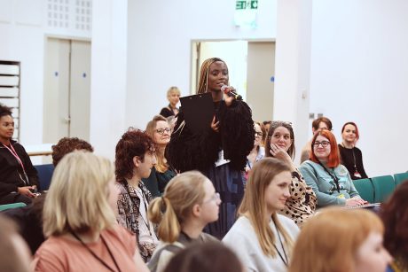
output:
[[[254,120],[273,120],[275,42],[192,42],[191,94],[196,93],[200,66],[207,58],[222,58],[230,84],[252,108]]]

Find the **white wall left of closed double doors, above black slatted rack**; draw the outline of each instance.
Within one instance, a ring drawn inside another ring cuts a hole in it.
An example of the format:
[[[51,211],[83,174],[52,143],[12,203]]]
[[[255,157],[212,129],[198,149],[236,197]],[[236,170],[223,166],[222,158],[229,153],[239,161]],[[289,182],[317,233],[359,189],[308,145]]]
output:
[[[0,1],[0,59],[21,62],[20,142],[43,142],[43,1]]]

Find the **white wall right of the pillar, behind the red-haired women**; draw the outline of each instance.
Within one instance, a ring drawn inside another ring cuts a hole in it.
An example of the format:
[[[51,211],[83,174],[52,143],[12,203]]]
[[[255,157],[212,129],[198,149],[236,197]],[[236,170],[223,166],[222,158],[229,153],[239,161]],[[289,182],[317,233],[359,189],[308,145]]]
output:
[[[408,170],[408,2],[314,1],[310,112],[360,129],[369,176]]]

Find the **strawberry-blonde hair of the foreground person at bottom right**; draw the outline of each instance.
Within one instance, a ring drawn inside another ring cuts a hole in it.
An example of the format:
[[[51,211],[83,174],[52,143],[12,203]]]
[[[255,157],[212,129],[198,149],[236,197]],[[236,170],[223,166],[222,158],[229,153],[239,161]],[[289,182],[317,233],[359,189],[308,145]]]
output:
[[[357,250],[371,232],[384,233],[380,218],[373,212],[322,209],[303,225],[288,271],[355,271]]]

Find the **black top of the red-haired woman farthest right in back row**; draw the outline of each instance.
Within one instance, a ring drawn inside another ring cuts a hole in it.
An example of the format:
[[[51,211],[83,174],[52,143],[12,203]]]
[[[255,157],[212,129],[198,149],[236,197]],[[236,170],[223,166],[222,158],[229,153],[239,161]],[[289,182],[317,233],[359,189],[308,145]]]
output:
[[[357,147],[353,148],[345,148],[341,144],[339,144],[339,151],[341,156],[341,164],[349,170],[349,174],[351,179],[358,180],[362,178],[367,178],[367,174],[365,174],[365,169],[363,166],[363,154]],[[361,175],[355,175],[359,173]]]

